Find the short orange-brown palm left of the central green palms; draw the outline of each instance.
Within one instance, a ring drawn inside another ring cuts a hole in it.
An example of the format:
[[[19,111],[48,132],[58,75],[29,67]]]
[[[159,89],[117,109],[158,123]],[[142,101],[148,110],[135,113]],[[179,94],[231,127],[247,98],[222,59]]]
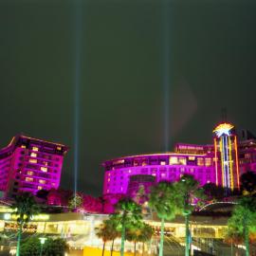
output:
[[[111,246],[111,255],[113,252],[114,241],[119,236],[119,231],[117,230],[116,221],[113,219],[104,220],[99,228],[96,228],[96,235],[102,239],[103,248],[102,248],[102,256],[105,251],[105,244],[107,241],[112,241]]]

